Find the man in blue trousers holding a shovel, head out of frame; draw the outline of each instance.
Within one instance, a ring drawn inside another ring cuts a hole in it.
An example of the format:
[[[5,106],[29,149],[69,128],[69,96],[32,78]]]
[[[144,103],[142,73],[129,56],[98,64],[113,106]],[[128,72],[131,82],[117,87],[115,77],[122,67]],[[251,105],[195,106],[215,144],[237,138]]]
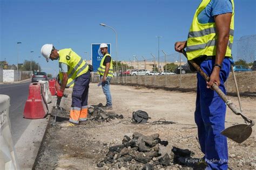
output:
[[[176,42],[174,47],[178,52],[186,48],[188,60],[197,62],[210,76],[206,82],[197,73],[194,113],[206,169],[228,168],[227,138],[220,133],[225,129],[226,105],[211,86],[215,83],[226,93],[224,82],[230,73],[233,33],[234,1],[203,0],[194,15],[187,41]]]

